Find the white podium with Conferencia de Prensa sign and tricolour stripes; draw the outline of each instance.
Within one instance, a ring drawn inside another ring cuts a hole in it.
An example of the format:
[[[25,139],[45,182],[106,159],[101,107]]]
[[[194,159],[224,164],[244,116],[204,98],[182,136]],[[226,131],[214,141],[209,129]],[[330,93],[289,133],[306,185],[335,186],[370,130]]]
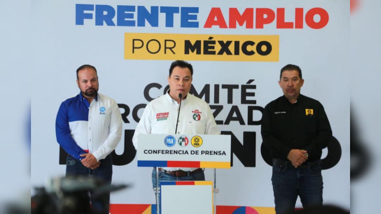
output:
[[[213,214],[216,168],[230,168],[231,136],[139,134],[138,167],[156,168],[158,214]],[[159,167],[213,168],[213,181],[158,182]],[[160,197],[160,198],[159,198]],[[160,203],[158,203],[160,201]],[[162,212],[163,210],[163,212]]]

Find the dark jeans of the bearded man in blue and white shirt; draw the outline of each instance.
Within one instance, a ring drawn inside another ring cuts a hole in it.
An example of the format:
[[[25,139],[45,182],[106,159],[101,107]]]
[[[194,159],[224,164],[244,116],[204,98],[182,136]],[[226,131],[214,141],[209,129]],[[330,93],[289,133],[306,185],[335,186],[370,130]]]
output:
[[[101,164],[96,169],[90,169],[69,155],[66,158],[66,176],[90,176],[103,180],[103,184],[111,184],[112,179],[112,157],[107,155],[101,160]],[[91,196],[91,192],[90,192]],[[106,193],[103,198],[91,198],[91,206],[97,212],[109,213],[110,192]]]

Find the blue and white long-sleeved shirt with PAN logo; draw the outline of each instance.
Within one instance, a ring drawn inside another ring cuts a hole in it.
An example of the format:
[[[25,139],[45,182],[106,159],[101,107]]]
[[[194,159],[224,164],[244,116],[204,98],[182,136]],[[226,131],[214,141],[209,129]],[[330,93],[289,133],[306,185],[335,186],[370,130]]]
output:
[[[75,159],[92,153],[97,161],[106,158],[122,137],[122,115],[118,104],[98,93],[89,104],[80,92],[61,103],[56,118],[56,138]]]

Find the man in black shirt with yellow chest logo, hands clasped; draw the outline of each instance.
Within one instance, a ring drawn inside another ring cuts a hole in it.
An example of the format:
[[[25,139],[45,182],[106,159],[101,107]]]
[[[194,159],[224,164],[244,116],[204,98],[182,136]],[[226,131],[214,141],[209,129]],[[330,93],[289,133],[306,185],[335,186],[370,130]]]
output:
[[[332,131],[323,105],[300,94],[303,83],[299,66],[283,67],[279,86],[284,95],[267,104],[262,116],[263,143],[273,158],[277,214],[295,209],[298,195],[304,208],[323,203],[320,157]]]

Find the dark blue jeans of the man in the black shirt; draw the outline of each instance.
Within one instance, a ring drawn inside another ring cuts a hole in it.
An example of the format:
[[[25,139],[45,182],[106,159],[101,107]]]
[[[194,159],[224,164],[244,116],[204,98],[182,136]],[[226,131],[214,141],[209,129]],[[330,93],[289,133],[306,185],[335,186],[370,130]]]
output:
[[[314,166],[295,168],[291,163],[280,165],[273,161],[271,181],[277,214],[293,211],[298,195],[303,208],[323,205],[323,177],[320,163],[319,160],[314,162]]]

